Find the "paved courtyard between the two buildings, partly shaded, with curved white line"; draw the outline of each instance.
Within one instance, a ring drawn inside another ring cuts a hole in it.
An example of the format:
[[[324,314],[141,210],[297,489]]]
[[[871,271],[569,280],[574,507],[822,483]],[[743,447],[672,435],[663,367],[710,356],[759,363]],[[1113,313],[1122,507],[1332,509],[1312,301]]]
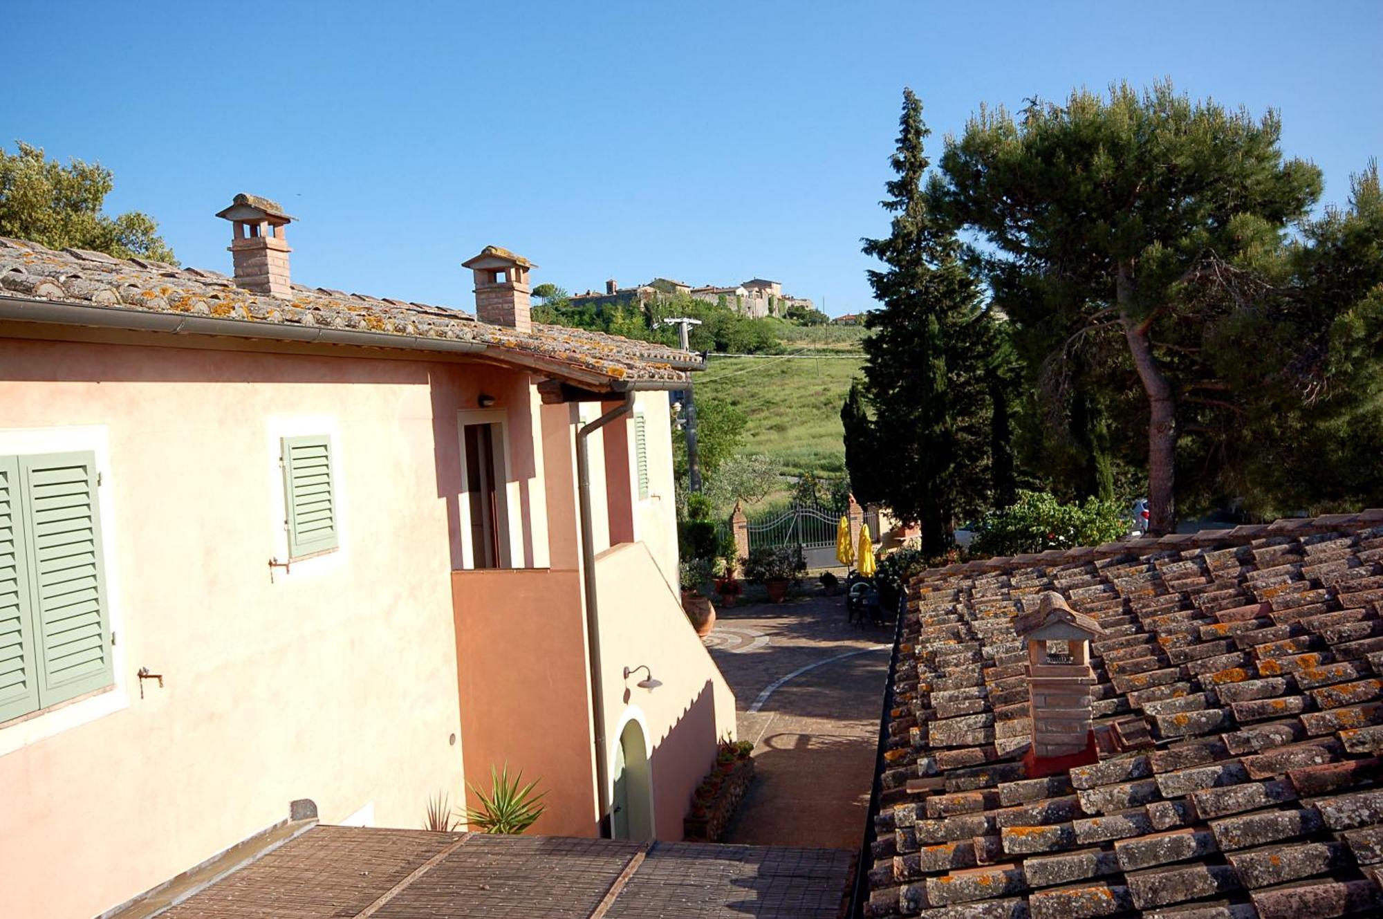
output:
[[[734,689],[757,774],[723,841],[857,850],[892,626],[846,623],[841,597],[716,612],[704,641]]]

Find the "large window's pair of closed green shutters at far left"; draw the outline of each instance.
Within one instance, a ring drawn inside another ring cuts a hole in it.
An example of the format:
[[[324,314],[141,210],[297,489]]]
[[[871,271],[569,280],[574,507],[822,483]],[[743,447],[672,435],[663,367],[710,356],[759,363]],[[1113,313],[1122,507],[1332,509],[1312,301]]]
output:
[[[0,457],[0,721],[112,682],[95,457]]]

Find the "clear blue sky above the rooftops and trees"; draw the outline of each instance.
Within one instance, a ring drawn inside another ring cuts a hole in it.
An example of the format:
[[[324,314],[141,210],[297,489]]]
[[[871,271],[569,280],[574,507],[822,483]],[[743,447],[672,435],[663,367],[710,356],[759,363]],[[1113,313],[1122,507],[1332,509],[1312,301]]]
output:
[[[184,264],[278,198],[296,281],[470,306],[485,244],[573,291],[750,277],[871,304],[859,237],[900,91],[982,102],[1171,76],[1282,111],[1325,199],[1383,152],[1383,3],[18,3],[0,141],[115,172]]]

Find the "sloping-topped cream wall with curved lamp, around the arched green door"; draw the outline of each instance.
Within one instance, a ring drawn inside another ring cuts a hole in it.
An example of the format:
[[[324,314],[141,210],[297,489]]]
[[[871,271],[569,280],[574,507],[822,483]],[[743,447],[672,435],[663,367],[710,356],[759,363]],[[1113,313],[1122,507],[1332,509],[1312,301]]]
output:
[[[734,693],[646,544],[602,552],[596,585],[609,761],[614,763],[621,722],[638,717],[653,745],[654,833],[682,839],[682,818],[715,761],[716,740],[734,738]],[[624,678],[625,667],[639,664],[647,664],[661,685],[638,686],[642,673]]]

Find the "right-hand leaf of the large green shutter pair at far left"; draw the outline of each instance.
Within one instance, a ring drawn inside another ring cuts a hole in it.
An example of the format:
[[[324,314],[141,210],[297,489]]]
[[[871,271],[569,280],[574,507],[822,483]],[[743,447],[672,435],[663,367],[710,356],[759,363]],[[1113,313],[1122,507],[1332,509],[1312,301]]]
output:
[[[47,707],[113,682],[95,455],[19,457],[29,597]]]

